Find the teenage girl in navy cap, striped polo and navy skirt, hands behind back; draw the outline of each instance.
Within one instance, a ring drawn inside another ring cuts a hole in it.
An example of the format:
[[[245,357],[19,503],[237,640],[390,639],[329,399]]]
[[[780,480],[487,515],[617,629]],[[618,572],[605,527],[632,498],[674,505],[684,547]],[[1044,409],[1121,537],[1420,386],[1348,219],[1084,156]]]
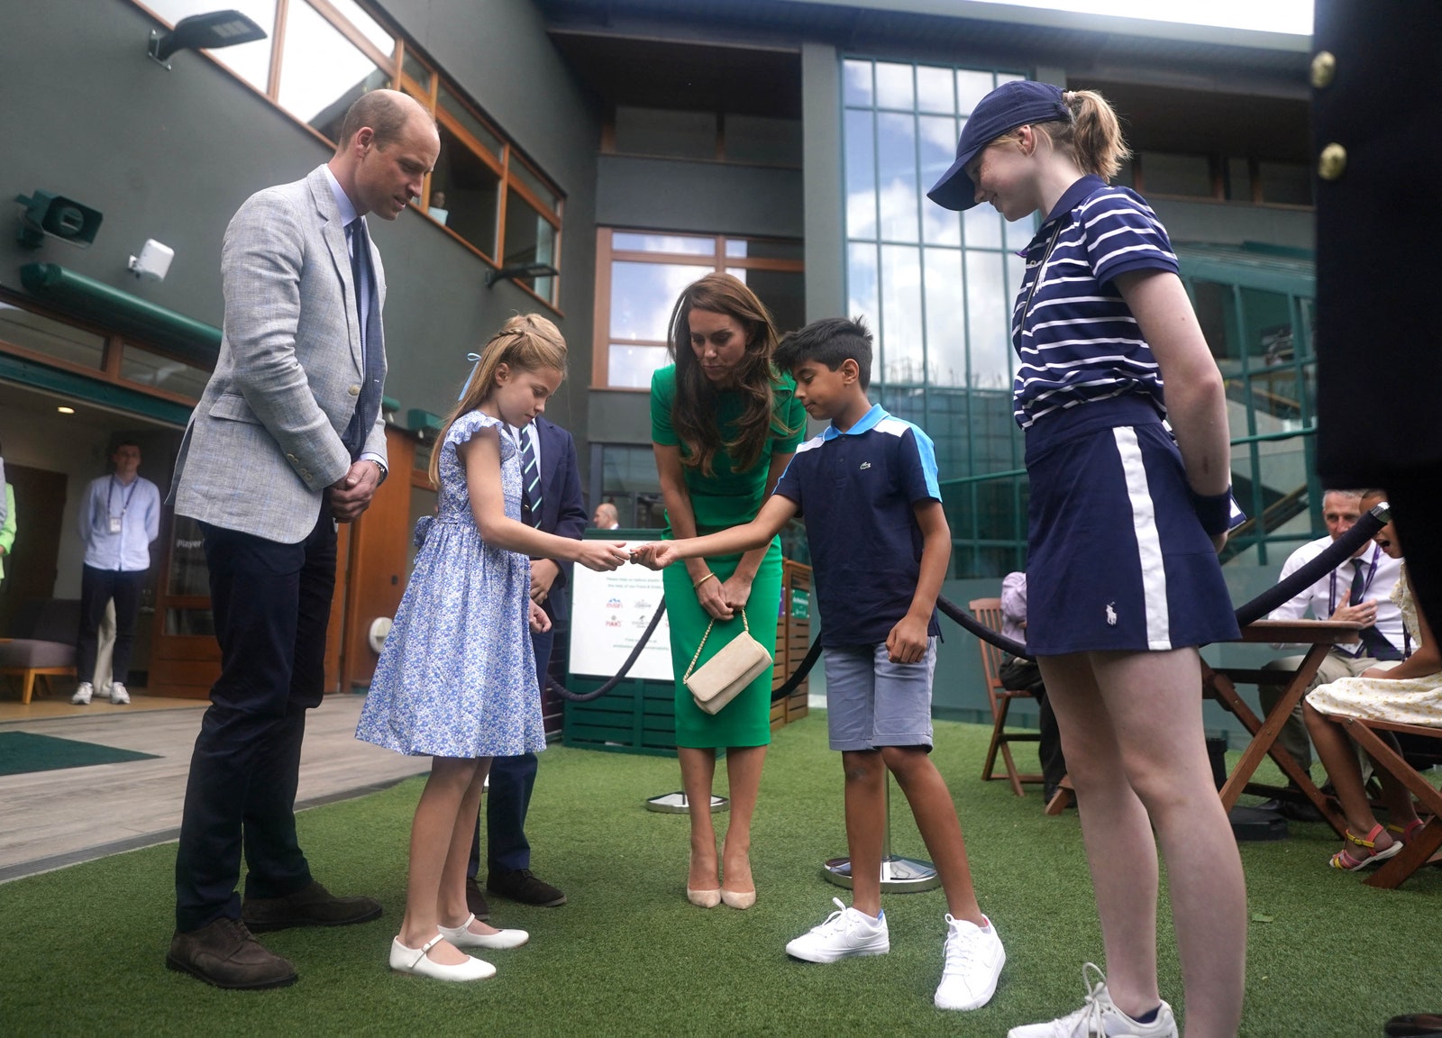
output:
[[[1197,655],[1239,637],[1217,562],[1233,518],[1226,396],[1167,231],[1107,186],[1126,156],[1099,94],[1009,82],[929,192],[947,209],[1045,218],[1012,311],[1027,643],[1061,725],[1109,975],[1087,963],[1082,1009],[1009,1038],[1177,1035],[1156,986],[1158,842],[1187,1034],[1231,1035],[1242,1018],[1246,891]]]

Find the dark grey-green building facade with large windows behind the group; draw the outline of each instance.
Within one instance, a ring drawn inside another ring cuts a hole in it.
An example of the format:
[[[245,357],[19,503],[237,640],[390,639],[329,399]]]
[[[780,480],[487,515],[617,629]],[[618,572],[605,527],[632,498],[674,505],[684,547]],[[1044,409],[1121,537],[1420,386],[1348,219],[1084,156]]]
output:
[[[1168,225],[1227,376],[1234,480],[1259,518],[1229,562],[1239,600],[1318,526],[1306,37],[969,0],[245,0],[264,40],[166,69],[150,33],[209,4],[12,7],[0,58],[43,89],[0,110],[0,189],[101,221],[84,248],[0,235],[0,443],[32,531],[7,559],[0,631],[25,598],[78,594],[75,502],[117,440],[167,484],[219,342],[229,215],[324,161],[345,108],[385,85],[435,114],[443,147],[424,196],[372,228],[392,466],[343,546],[335,688],[369,679],[371,626],[434,500],[428,432],[466,352],[510,313],[545,313],[571,345],[548,417],[577,438],[590,503],[660,525],[645,389],[676,293],[709,270],[743,277],[783,330],[865,316],[877,398],[937,444],[949,594],[1021,567],[1007,313],[1031,221],[924,199],[970,107],[1008,78],[1100,89],[1126,120],[1122,180]],[[147,239],[174,249],[163,281],[127,268]],[[525,264],[557,274],[487,284]],[[137,655],[151,686],[190,693],[213,670],[198,539],[167,518]],[[803,538],[787,546],[805,558]],[[975,673],[966,646],[943,653],[942,712],[981,709]]]

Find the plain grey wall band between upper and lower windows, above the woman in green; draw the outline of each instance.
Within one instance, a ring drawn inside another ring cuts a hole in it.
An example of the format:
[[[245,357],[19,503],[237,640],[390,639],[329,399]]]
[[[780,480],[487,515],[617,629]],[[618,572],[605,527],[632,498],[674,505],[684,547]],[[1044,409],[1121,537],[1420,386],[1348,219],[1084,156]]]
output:
[[[604,226],[800,238],[802,173],[766,166],[601,156],[596,221]]]

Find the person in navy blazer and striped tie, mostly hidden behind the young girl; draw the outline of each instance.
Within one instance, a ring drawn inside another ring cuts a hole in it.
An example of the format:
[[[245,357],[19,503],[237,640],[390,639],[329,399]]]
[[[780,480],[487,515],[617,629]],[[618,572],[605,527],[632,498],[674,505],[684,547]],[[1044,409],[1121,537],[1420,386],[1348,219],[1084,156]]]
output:
[[[575,440],[541,415],[536,415],[534,425],[541,453],[541,520],[536,526],[545,533],[580,539],[588,513],[581,496],[581,473],[575,464]],[[565,627],[570,617],[570,565],[531,559],[531,597],[551,617],[551,630],[531,633],[541,689],[545,689],[557,630]],[[554,907],[565,904],[565,894],[532,875],[531,843],[525,835],[535,780],[535,754],[496,757],[490,763],[490,789],[486,794],[486,887],[513,901]],[[485,920],[490,910],[476,878],[479,871],[480,819],[476,820],[476,838],[470,846],[466,900],[476,918]]]

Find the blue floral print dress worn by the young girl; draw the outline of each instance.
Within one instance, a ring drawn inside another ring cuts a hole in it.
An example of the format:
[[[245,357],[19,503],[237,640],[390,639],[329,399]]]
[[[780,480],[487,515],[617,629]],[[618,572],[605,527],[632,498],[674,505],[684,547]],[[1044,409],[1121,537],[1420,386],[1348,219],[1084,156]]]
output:
[[[521,464],[499,420],[457,418],[437,447],[440,509],[417,523],[415,571],[371,679],[356,738],[404,754],[515,757],[545,750],[528,627],[531,562],[480,539],[456,448],[500,432],[506,516],[521,518]]]

